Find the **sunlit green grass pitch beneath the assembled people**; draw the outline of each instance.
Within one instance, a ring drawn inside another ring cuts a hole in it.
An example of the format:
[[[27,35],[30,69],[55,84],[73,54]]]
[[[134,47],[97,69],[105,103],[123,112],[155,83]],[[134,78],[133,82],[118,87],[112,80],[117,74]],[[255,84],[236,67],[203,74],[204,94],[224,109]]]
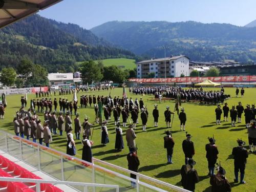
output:
[[[219,90],[219,89],[210,89],[209,90]],[[128,90],[127,90],[128,91]],[[225,88],[225,94],[230,94],[231,98],[227,100],[229,107],[232,105],[237,105],[239,101],[245,106],[247,103],[251,104],[255,102],[256,99],[256,89],[248,88],[245,89],[245,97],[244,98],[236,98],[234,96],[235,89],[234,88]],[[79,93],[78,98],[81,94]],[[107,91],[101,92],[92,92],[87,93],[95,94],[95,95],[109,95]],[[111,95],[122,95],[122,89],[115,89],[111,91]],[[166,165],[166,151],[163,148],[163,137],[165,136],[164,131],[165,123],[164,123],[164,115],[163,111],[165,110],[166,105],[170,106],[170,109],[174,108],[174,102],[166,102],[166,103],[158,103],[159,106],[159,127],[154,127],[153,124],[153,116],[152,110],[154,108],[154,102],[146,102],[147,98],[151,98],[152,96],[140,96],[140,95],[133,95],[127,93],[129,97],[132,97],[133,100],[135,98],[142,97],[144,102],[147,105],[147,109],[149,112],[148,123],[147,123],[147,132],[142,132],[141,124],[137,126],[137,130],[135,131],[137,134],[136,143],[138,146],[138,156],[140,159],[140,167],[139,173],[157,178],[159,180],[180,185],[180,168],[184,163],[184,154],[182,152],[182,141],[185,139],[185,132],[179,131],[179,120],[177,117],[177,113],[174,117],[173,123],[173,137],[175,140],[175,147],[174,147],[174,154],[173,154],[173,161],[174,164]],[[29,100],[35,97],[35,95],[28,95]],[[58,98],[59,96],[57,96]],[[64,97],[68,97],[68,99],[72,98],[72,95],[65,95]],[[10,133],[14,133],[13,131],[13,115],[15,111],[19,109],[20,106],[20,95],[8,95],[7,96],[7,109],[6,115],[4,120],[0,120],[0,127],[2,130],[6,130]],[[212,137],[214,134],[216,139],[216,144],[219,148],[219,160],[221,160],[222,166],[226,169],[226,177],[230,180],[232,185],[232,191],[255,191],[256,184],[256,156],[255,154],[250,154],[249,158],[247,159],[246,169],[245,169],[245,181],[247,182],[244,185],[234,184],[233,183],[233,159],[231,158],[230,154],[232,152],[232,148],[237,146],[236,140],[238,138],[242,138],[246,141],[246,147],[248,148],[248,135],[247,130],[245,129],[244,123],[244,116],[242,116],[242,123],[237,124],[236,127],[230,126],[230,119],[228,122],[221,122],[221,125],[215,124],[215,108],[216,106],[206,106],[206,105],[199,105],[199,104],[192,104],[192,103],[182,103],[182,106],[185,109],[187,114],[187,122],[186,122],[186,130],[189,134],[193,135],[192,140],[195,143],[195,150],[196,154],[194,159],[196,160],[197,164],[195,168],[198,170],[200,182],[196,184],[196,191],[211,191],[210,184],[209,184],[209,177],[208,168],[207,168],[207,160],[205,158],[205,144],[208,143],[207,137]],[[59,108],[58,108],[59,109]],[[93,122],[95,115],[94,115],[94,108],[87,108],[87,109],[78,109],[78,113],[80,114],[80,120],[82,121],[84,116],[89,116],[89,121]],[[40,117],[43,118],[42,116]],[[72,116],[74,119],[74,115]],[[223,117],[222,117],[223,120]],[[139,122],[141,119],[139,118]],[[102,146],[100,144],[100,127],[95,125],[94,127],[94,134],[93,134],[93,141],[94,146],[92,147],[93,156],[97,159],[101,159],[104,161],[108,161],[110,163],[116,164],[118,166],[122,166],[127,168],[127,160],[126,154],[129,152],[128,148],[126,147],[125,141],[125,128],[123,128],[123,138],[125,143],[125,148],[122,152],[116,152],[114,149],[115,145],[115,127],[112,121],[110,125],[108,125],[109,130],[109,137],[110,143],[107,146]],[[50,144],[50,147],[55,148],[61,152],[66,152],[66,137],[60,136],[58,140],[53,141]],[[81,141],[76,140],[76,147],[78,154],[77,157],[81,158]]]

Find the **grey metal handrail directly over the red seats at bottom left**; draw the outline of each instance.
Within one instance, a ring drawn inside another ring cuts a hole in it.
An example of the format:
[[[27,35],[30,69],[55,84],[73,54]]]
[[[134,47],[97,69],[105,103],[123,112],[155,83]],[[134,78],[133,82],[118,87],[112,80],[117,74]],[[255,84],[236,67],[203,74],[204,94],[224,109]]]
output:
[[[80,183],[80,182],[69,182],[69,181],[50,181],[41,179],[25,179],[25,178],[11,178],[11,177],[0,177],[0,181],[7,182],[23,182],[23,183],[35,183],[36,192],[40,192],[41,183],[51,183],[51,184],[62,184],[62,185],[79,185],[83,187],[83,192],[88,192],[88,187],[104,187],[104,188],[115,188],[116,192],[119,192],[118,185],[106,185],[106,184],[96,184],[96,183]]]

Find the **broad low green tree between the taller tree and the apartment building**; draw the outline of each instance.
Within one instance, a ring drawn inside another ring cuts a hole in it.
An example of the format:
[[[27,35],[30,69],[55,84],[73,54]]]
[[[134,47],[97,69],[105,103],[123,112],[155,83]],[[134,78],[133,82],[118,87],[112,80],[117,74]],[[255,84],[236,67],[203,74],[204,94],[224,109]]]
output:
[[[124,72],[117,66],[104,67],[103,76],[104,80],[112,80],[117,83],[121,83],[125,79]]]

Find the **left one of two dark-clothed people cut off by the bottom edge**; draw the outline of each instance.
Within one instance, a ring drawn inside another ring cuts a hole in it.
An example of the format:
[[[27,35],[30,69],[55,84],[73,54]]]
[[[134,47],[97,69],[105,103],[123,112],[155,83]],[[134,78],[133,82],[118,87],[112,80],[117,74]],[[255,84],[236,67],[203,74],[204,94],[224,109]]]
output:
[[[196,161],[188,159],[187,164],[182,165],[180,170],[181,185],[189,191],[195,191],[196,183],[199,182],[197,170],[193,167],[195,164]]]

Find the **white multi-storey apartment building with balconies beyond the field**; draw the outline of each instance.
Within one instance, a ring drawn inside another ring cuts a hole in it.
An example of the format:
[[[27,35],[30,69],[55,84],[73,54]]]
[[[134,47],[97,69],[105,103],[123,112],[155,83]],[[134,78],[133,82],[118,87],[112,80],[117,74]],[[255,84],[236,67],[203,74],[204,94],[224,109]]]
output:
[[[189,58],[185,55],[166,58],[143,60],[136,63],[137,78],[146,78],[148,74],[155,73],[155,78],[189,76]],[[165,67],[166,66],[166,67]]]

